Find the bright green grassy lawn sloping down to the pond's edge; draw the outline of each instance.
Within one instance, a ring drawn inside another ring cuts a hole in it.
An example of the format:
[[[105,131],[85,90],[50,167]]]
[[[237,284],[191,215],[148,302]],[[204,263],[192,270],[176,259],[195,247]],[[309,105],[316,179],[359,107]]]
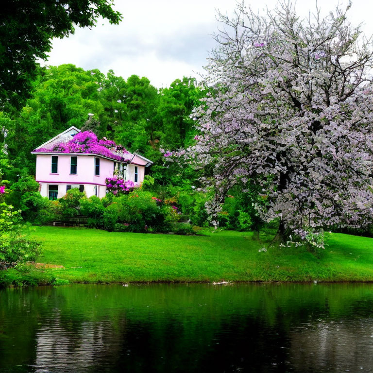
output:
[[[42,242],[37,266],[0,273],[5,285],[68,283],[373,281],[373,238],[327,234],[320,258],[304,247],[268,246],[250,232],[203,231],[201,236],[115,233],[34,227]]]

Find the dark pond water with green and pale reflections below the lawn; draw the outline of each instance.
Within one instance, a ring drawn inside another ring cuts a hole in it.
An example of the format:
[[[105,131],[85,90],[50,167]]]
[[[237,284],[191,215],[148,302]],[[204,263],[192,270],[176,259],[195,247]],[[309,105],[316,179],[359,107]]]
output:
[[[1,372],[373,372],[373,286],[0,291]]]

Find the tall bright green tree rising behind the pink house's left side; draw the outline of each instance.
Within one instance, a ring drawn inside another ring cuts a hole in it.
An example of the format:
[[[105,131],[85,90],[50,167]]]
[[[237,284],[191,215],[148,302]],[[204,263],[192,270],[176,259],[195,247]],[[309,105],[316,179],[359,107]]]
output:
[[[101,118],[104,109],[99,88],[103,76],[99,70],[85,71],[74,65],[39,69],[27,105],[13,116],[14,120],[6,119],[6,142],[14,165],[10,179],[34,174],[35,157],[30,152],[37,146],[72,125],[80,128],[88,113]],[[105,133],[101,128],[95,132],[99,136]]]

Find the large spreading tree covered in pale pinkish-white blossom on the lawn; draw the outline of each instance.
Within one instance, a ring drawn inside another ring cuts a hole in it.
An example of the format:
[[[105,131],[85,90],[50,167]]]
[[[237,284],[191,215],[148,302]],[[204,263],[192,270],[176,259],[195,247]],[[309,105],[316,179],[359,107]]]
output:
[[[231,186],[254,181],[282,237],[322,247],[323,227],[372,219],[372,44],[348,22],[350,5],[306,20],[290,2],[220,15],[188,152],[210,166],[213,214]]]

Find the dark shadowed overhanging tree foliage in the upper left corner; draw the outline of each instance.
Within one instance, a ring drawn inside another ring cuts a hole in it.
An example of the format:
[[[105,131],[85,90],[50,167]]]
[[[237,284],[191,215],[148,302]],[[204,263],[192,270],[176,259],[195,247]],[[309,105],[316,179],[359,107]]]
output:
[[[51,38],[74,27],[95,26],[98,17],[118,24],[112,0],[3,0],[0,12],[0,110],[20,107],[31,88],[36,58],[46,59]]]

